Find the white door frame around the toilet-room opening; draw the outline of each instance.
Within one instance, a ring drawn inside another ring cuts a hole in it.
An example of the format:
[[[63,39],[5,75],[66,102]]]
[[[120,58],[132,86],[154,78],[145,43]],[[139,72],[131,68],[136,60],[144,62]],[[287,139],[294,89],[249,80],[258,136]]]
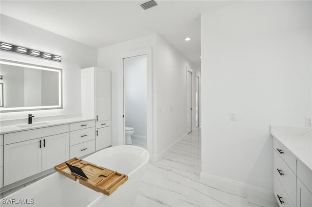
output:
[[[130,52],[122,52],[118,55],[118,95],[117,95],[117,137],[118,137],[118,145],[125,145],[125,119],[124,119],[124,59],[129,57],[135,57],[140,55],[146,55],[146,63],[147,63],[147,151],[151,155],[150,158],[153,158],[154,155],[153,152],[156,152],[155,142],[155,131],[153,131],[153,126],[156,123],[154,121],[153,117],[153,105],[156,105],[154,102],[156,102],[155,99],[153,99],[153,75],[152,75],[152,47],[147,47],[143,49],[138,49],[135,51]],[[154,126],[155,128],[155,126]],[[153,148],[154,147],[154,148]]]

